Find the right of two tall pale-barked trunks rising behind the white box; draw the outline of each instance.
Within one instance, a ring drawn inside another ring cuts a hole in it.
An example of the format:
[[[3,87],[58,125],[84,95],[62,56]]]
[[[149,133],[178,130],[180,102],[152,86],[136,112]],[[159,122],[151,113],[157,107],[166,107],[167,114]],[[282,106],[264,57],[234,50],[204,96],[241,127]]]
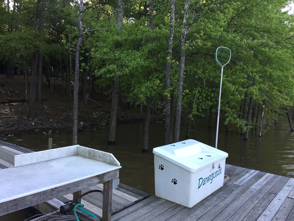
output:
[[[178,77],[178,95],[177,95],[177,101],[176,101],[176,122],[175,122],[174,142],[178,142],[180,137],[183,78],[184,78],[185,58],[186,58],[184,46],[186,44],[186,34],[187,34],[186,29],[187,29],[188,11],[189,11],[190,2],[191,0],[185,0],[185,5],[184,5],[184,19],[183,19],[182,35],[181,35],[181,59],[180,59],[180,72]]]

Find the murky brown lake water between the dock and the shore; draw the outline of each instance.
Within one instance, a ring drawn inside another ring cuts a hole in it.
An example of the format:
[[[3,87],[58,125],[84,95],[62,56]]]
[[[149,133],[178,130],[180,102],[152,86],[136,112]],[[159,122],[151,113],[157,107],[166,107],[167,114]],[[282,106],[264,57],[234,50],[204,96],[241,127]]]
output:
[[[207,119],[198,119],[197,128],[189,139],[215,146],[216,129],[207,127]],[[226,163],[257,169],[270,173],[294,177],[294,133],[290,132],[288,120],[280,119],[276,125],[264,125],[270,130],[258,138],[258,131],[251,130],[248,141],[243,141],[239,132],[226,133],[220,125],[218,149],[229,154]],[[78,144],[111,152],[121,163],[120,182],[154,194],[154,165],[152,149],[164,144],[164,124],[151,123],[148,153],[142,154],[144,123],[119,124],[116,144],[107,145],[108,129],[85,130],[78,133]],[[180,140],[185,140],[186,125],[182,125]],[[10,143],[40,151],[47,149],[48,138],[53,138],[53,147],[72,144],[71,133],[52,131],[45,135],[41,131],[19,137],[1,138]]]

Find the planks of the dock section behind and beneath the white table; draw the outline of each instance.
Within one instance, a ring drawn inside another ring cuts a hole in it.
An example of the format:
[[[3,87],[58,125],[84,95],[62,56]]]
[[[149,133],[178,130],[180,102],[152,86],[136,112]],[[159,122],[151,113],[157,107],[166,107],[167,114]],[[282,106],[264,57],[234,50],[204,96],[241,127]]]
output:
[[[0,169],[14,167],[15,155],[30,152],[34,151],[0,140]],[[93,189],[103,190],[103,184],[98,184],[96,186],[83,189],[82,193]],[[111,213],[115,214],[147,197],[149,197],[149,194],[147,193],[123,184],[119,184],[118,188],[113,190]],[[52,210],[58,210],[61,205],[64,205],[64,202],[70,201],[72,199],[73,194],[67,194],[63,197],[59,197],[58,199],[49,200],[46,203],[38,204],[34,207],[44,213],[48,213]],[[102,217],[102,202],[103,195],[97,192],[90,193],[82,198],[82,203],[85,205],[85,208],[99,218]],[[81,213],[85,215],[84,218],[90,217],[86,213]]]

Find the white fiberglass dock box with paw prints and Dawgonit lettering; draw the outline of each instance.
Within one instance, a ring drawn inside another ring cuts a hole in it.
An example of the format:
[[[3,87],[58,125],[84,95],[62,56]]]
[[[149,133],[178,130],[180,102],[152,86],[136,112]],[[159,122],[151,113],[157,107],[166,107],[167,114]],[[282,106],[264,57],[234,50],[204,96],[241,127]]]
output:
[[[196,140],[156,147],[155,195],[193,207],[223,186],[228,154]]]

